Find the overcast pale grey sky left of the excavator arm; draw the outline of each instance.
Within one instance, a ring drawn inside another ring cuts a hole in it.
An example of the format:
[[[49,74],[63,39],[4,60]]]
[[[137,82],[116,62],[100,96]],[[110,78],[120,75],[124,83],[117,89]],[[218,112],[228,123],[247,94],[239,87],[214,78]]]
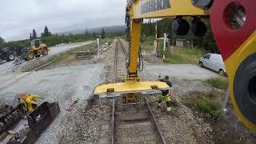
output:
[[[51,33],[124,24],[126,0],[1,0],[0,36],[29,38],[44,26]]]

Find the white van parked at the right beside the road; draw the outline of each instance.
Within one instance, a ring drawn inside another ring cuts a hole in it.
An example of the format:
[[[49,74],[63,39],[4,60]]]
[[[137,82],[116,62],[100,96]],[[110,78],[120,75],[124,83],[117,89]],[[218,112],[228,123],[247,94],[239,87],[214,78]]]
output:
[[[226,69],[221,54],[206,54],[199,59],[199,65],[217,71],[218,74],[222,76],[226,75]]]

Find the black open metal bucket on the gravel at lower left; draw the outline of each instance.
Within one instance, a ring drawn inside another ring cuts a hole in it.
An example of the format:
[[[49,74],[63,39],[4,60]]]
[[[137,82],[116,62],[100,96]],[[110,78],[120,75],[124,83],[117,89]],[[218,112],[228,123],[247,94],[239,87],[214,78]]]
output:
[[[34,143],[60,113],[58,102],[43,102],[28,117],[30,131],[21,143]]]

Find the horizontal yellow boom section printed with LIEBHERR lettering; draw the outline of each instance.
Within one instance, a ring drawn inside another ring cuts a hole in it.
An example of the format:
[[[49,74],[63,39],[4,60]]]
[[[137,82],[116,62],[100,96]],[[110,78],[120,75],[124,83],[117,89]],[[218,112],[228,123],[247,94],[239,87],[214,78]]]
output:
[[[161,4],[150,0],[130,2],[130,18],[170,18],[177,15],[209,15],[209,10],[193,6],[191,0],[161,0]],[[149,6],[150,5],[150,6]]]

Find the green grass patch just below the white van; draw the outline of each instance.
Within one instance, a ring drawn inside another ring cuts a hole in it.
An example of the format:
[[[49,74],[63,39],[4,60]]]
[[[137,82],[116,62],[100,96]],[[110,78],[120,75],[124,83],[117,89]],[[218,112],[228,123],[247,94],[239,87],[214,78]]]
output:
[[[209,78],[206,79],[204,82],[217,89],[227,90],[229,87],[229,83],[227,82],[226,78]]]

